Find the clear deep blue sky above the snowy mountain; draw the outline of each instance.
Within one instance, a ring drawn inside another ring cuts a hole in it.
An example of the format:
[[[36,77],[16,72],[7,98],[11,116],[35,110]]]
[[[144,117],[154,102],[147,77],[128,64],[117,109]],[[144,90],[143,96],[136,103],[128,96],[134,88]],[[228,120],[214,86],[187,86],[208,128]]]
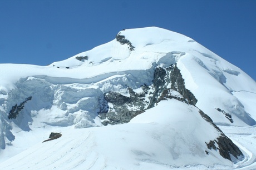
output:
[[[46,66],[149,26],[185,34],[256,79],[253,0],[0,0],[0,63]]]

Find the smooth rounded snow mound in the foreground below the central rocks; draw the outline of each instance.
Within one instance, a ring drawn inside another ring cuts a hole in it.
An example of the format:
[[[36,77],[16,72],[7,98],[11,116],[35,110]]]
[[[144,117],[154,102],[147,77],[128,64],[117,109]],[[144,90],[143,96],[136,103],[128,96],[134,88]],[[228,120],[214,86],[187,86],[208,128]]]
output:
[[[206,131],[205,131],[206,129]],[[62,132],[0,164],[3,169],[202,169],[234,168],[205,142],[220,132],[199,109],[175,99],[161,101],[127,124]],[[15,163],[13,163],[15,162]],[[26,162],[24,164],[24,162]]]

